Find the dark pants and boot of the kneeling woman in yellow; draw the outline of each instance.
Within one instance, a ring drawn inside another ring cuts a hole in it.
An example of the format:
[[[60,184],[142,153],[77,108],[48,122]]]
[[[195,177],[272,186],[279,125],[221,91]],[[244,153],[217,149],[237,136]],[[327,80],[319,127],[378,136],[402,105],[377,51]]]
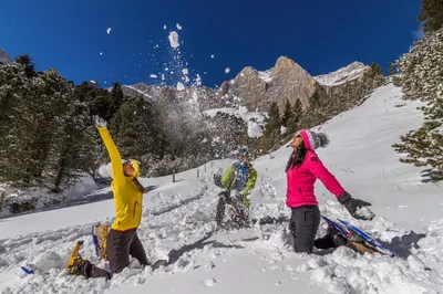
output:
[[[85,277],[106,277],[107,280],[111,280],[114,273],[120,273],[130,264],[130,254],[134,259],[137,259],[141,265],[150,265],[146,252],[138,239],[136,229],[124,232],[111,229],[107,233],[106,244],[111,272],[85,261],[85,265],[82,269],[82,274]]]

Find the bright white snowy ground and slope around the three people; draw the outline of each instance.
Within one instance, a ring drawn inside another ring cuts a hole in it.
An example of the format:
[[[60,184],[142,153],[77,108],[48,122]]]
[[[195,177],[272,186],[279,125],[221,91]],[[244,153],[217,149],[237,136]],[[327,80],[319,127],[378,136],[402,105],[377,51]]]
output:
[[[360,107],[319,127],[331,139],[318,151],[324,165],[356,198],[373,203],[373,221],[353,220],[320,182],[321,212],[351,221],[396,251],[400,258],[356,255],[339,249],[328,255],[293,253],[286,244],[282,147],[255,161],[259,180],[253,192],[256,217],[284,219],[230,233],[214,233],[219,189],[212,175],[229,160],[171,177],[144,180],[161,187],[144,198],[138,230],[148,259],[168,256],[165,269],[126,269],[110,282],[66,276],[63,261],[75,240],[84,258],[96,262],[90,225],[113,217],[112,200],[0,221],[2,293],[439,293],[443,288],[443,200],[441,187],[421,182],[420,168],[399,162],[391,145],[421,125],[419,102],[404,102],[392,85],[377,90]],[[405,104],[402,107],[395,105]],[[324,233],[321,224],[319,235]],[[411,254],[413,253],[413,254]],[[42,255],[44,254],[44,255]],[[419,256],[432,271],[413,256]],[[19,265],[53,267],[47,277],[18,277]],[[51,261],[51,262],[50,262]]]

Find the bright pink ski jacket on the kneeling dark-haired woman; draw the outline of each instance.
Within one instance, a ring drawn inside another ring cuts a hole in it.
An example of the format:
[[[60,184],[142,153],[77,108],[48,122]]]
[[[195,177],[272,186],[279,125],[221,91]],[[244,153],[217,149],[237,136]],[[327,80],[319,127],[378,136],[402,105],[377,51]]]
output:
[[[288,187],[286,204],[290,208],[318,204],[316,195],[313,193],[313,185],[317,179],[320,179],[326,188],[337,198],[346,192],[312,149],[307,150],[301,165],[288,169],[286,178]]]

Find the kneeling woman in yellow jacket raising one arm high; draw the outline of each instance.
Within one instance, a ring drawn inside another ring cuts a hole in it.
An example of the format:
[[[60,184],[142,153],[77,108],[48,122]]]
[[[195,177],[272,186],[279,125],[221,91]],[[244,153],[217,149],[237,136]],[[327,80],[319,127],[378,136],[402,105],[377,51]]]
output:
[[[106,169],[113,179],[111,188],[114,193],[115,220],[106,239],[110,272],[96,267],[90,261],[82,260],[80,256],[79,262],[73,269],[70,269],[70,272],[84,275],[86,279],[111,279],[114,273],[120,273],[130,264],[130,254],[137,259],[143,266],[150,265],[137,235],[145,189],[137,180],[140,176],[138,162],[136,160],[122,160],[106,128],[106,122],[100,117],[94,117],[94,120],[111,158],[111,164],[107,165]]]

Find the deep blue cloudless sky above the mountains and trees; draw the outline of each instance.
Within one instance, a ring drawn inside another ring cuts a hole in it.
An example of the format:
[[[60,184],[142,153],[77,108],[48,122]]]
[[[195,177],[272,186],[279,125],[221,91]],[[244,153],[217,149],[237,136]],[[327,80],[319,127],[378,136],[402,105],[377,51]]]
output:
[[[11,57],[25,53],[38,70],[54,67],[75,83],[97,80],[102,86],[114,81],[158,84],[150,74],[159,76],[174,67],[164,64],[177,65],[174,56],[208,86],[248,65],[272,67],[281,55],[311,75],[353,61],[387,67],[420,35],[420,1],[412,0],[1,2],[0,48]],[[172,30],[184,42],[179,55],[167,40]],[[178,81],[176,73],[166,78]]]

